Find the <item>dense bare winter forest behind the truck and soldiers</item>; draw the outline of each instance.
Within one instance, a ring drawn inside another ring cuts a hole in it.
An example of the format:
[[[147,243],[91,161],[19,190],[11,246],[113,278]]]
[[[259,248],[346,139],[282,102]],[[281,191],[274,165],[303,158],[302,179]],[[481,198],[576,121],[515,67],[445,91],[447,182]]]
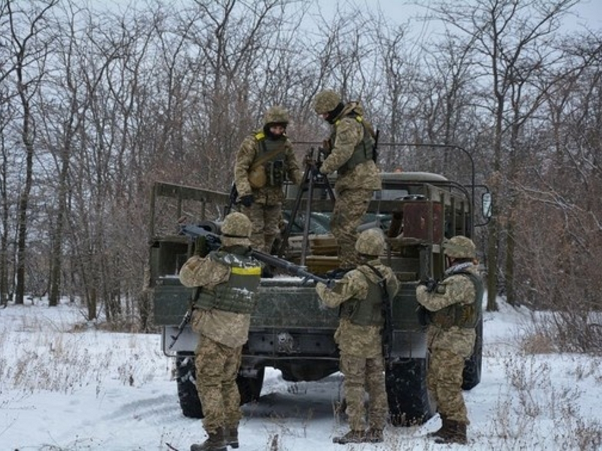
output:
[[[334,88],[393,144],[382,170],[470,184],[474,161],[494,195],[476,237],[488,310],[552,310],[542,338],[600,351],[602,33],[563,26],[579,1],[428,2],[403,21],[329,4],[0,0],[0,302],[68,296],[89,321],[152,330],[152,183],[228,191],[265,109],[320,141],[311,100]],[[425,20],[441,24],[426,39]]]

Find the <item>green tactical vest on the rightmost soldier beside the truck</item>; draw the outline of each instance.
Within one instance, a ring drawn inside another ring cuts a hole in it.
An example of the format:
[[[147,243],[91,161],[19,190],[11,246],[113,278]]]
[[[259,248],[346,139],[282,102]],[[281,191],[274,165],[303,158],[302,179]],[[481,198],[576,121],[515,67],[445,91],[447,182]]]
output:
[[[450,274],[450,276],[457,274],[465,275],[472,281],[474,290],[476,292],[474,302],[466,305],[452,304],[442,308],[441,310],[431,311],[429,312],[429,319],[430,322],[444,329],[448,329],[452,326],[472,329],[476,327],[481,316],[481,299],[483,299],[483,292],[485,288],[483,287],[483,281],[476,274],[473,274],[469,271],[458,271],[453,272]]]

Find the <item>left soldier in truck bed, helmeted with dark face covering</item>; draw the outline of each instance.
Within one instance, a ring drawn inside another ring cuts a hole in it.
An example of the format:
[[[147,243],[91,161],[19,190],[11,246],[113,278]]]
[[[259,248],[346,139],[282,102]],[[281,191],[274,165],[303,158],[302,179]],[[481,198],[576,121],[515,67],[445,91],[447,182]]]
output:
[[[303,179],[286,134],[288,122],[286,109],[269,108],[262,129],[251,133],[241,144],[234,167],[240,210],[253,224],[251,245],[265,253],[272,251],[280,230],[285,179],[296,185]]]

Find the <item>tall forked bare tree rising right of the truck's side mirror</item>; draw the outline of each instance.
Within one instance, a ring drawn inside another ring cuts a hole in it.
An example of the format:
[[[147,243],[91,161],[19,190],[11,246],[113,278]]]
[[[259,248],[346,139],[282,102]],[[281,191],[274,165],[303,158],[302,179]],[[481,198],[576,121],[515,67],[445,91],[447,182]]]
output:
[[[506,253],[506,259],[510,259],[510,263],[506,266],[506,270],[510,271],[510,279],[506,279],[506,284],[510,287],[509,301],[514,302],[512,296],[514,219],[509,215],[509,206],[504,202],[504,198],[509,194],[510,180],[514,177],[509,170],[517,165],[513,158],[517,153],[505,151],[515,144],[511,139],[509,143],[506,140],[506,124],[514,123],[514,133],[516,133],[520,123],[516,123],[517,107],[515,106],[513,117],[507,114],[507,105],[512,101],[516,103],[520,98],[518,87],[524,83],[524,80],[521,81],[521,78],[517,77],[518,73],[523,76],[528,75],[529,66],[534,67],[542,63],[541,55],[538,55],[540,46],[548,43],[559,27],[560,17],[575,4],[576,0],[554,2],[532,0],[521,3],[512,0],[495,2],[478,0],[475,5],[470,6],[443,2],[436,8],[447,23],[474,38],[477,51],[484,57],[483,76],[490,79],[494,95],[494,102],[488,107],[491,108],[494,130],[490,185],[497,203],[494,204],[493,215],[488,226],[488,310],[497,310],[495,296],[498,293],[500,275],[498,263],[501,256],[501,238],[510,240],[507,248],[510,255]],[[512,98],[513,94],[516,94],[514,98]],[[521,114],[524,112],[519,115]],[[512,127],[510,129],[512,130]]]

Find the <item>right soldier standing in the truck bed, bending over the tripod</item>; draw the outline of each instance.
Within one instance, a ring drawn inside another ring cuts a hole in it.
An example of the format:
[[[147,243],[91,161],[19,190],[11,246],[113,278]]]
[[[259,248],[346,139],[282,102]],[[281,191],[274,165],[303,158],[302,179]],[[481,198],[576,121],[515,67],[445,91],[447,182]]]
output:
[[[326,159],[320,173],[337,171],[337,201],[330,218],[330,230],[340,247],[341,269],[353,268],[357,256],[353,250],[357,227],[368,209],[373,191],[381,189],[374,155],[374,132],[364,120],[359,102],[343,104],[335,91],[321,91],[315,96],[314,109],[329,124],[330,138],[324,142]]]

